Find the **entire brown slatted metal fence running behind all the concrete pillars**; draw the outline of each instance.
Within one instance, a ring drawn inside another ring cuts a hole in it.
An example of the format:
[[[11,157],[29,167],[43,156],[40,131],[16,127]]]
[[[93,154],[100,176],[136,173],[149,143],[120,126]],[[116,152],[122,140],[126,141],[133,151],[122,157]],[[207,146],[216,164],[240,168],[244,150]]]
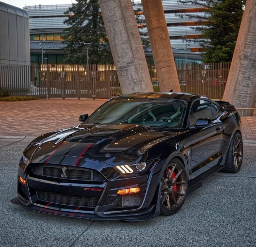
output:
[[[221,99],[230,63],[178,64],[177,73],[182,92]],[[1,77],[3,74],[1,69]],[[156,69],[149,66],[154,91],[160,91]],[[21,73],[22,75],[22,73]],[[11,93],[41,95],[47,98],[110,98],[121,94],[114,65],[41,65],[31,66],[26,87],[16,83],[17,77],[8,80]],[[2,83],[1,83],[2,84]],[[10,85],[12,84],[12,85]],[[3,86],[7,85],[6,83]],[[170,88],[171,89],[171,88]]]

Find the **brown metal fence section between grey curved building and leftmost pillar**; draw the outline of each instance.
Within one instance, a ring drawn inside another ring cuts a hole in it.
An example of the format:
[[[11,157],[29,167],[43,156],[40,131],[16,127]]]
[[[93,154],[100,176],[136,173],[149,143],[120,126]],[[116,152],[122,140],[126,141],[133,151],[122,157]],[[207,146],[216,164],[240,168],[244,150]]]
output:
[[[31,67],[31,95],[110,98],[121,94],[113,65],[43,65]]]

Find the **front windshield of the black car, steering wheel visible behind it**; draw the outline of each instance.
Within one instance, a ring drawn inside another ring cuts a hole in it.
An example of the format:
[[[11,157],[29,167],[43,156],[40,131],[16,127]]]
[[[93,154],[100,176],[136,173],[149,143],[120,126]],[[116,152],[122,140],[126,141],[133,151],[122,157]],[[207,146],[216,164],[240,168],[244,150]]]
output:
[[[162,99],[117,99],[99,107],[86,123],[130,123],[181,128],[186,102]]]

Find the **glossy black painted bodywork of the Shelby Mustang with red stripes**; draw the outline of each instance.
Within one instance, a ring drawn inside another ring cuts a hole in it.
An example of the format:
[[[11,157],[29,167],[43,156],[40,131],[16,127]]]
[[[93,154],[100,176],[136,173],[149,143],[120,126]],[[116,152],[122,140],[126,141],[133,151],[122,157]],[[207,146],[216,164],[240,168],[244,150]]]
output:
[[[229,103],[218,102],[221,112],[215,119],[199,120],[200,125],[190,127],[187,122],[194,101],[202,99],[217,103],[206,97],[185,93],[135,93],[114,99],[127,97],[186,101],[182,128],[82,123],[41,135],[24,150],[23,154],[29,159],[29,163],[26,165],[21,159],[18,176],[25,178],[27,186],[22,187],[18,181],[18,196],[12,202],[28,210],[78,218],[144,220],[160,213],[161,176],[165,165],[174,157],[185,165],[190,189],[223,168],[231,138],[235,131],[240,131],[241,126],[239,114]],[[117,165],[138,162],[146,162],[147,169],[126,175],[121,175],[114,169]],[[32,168],[38,165],[88,169],[102,174],[104,181],[66,178],[49,180],[49,177],[35,176],[32,173]],[[131,187],[141,189],[141,205],[117,207],[120,201],[123,205],[125,200],[117,194],[117,190]],[[49,204],[38,199],[37,190],[77,197],[96,197],[99,200],[94,207]]]

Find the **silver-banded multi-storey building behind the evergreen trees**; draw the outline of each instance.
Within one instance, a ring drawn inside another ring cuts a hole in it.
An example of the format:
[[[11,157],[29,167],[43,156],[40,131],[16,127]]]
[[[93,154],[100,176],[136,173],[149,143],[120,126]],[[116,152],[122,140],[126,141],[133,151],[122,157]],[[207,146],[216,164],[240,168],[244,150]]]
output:
[[[203,2],[203,1],[202,1]],[[199,52],[202,51],[200,44],[189,42],[190,39],[200,38],[200,33],[196,32],[193,27],[199,25],[197,18],[181,17],[181,14],[205,15],[205,8],[192,4],[181,4],[178,0],[162,0],[165,11],[166,24],[169,32],[170,42],[173,49],[181,52],[174,52],[176,63],[187,62],[198,63],[201,60]],[[138,5],[141,3],[138,2]],[[47,63],[63,63],[64,53],[62,48],[65,46],[62,41],[67,27],[64,20],[68,18],[64,13],[72,5],[38,5],[26,6],[23,9],[29,16],[30,25],[30,51],[31,63],[40,64],[41,46],[43,41],[43,57]],[[135,7],[137,8],[137,7]],[[139,6],[139,8],[142,8]],[[143,12],[142,18],[143,18]],[[146,31],[145,27],[141,27]],[[187,36],[187,45],[185,42]],[[144,43],[146,57],[149,63],[152,63],[152,52]],[[185,52],[187,50],[187,52]]]

